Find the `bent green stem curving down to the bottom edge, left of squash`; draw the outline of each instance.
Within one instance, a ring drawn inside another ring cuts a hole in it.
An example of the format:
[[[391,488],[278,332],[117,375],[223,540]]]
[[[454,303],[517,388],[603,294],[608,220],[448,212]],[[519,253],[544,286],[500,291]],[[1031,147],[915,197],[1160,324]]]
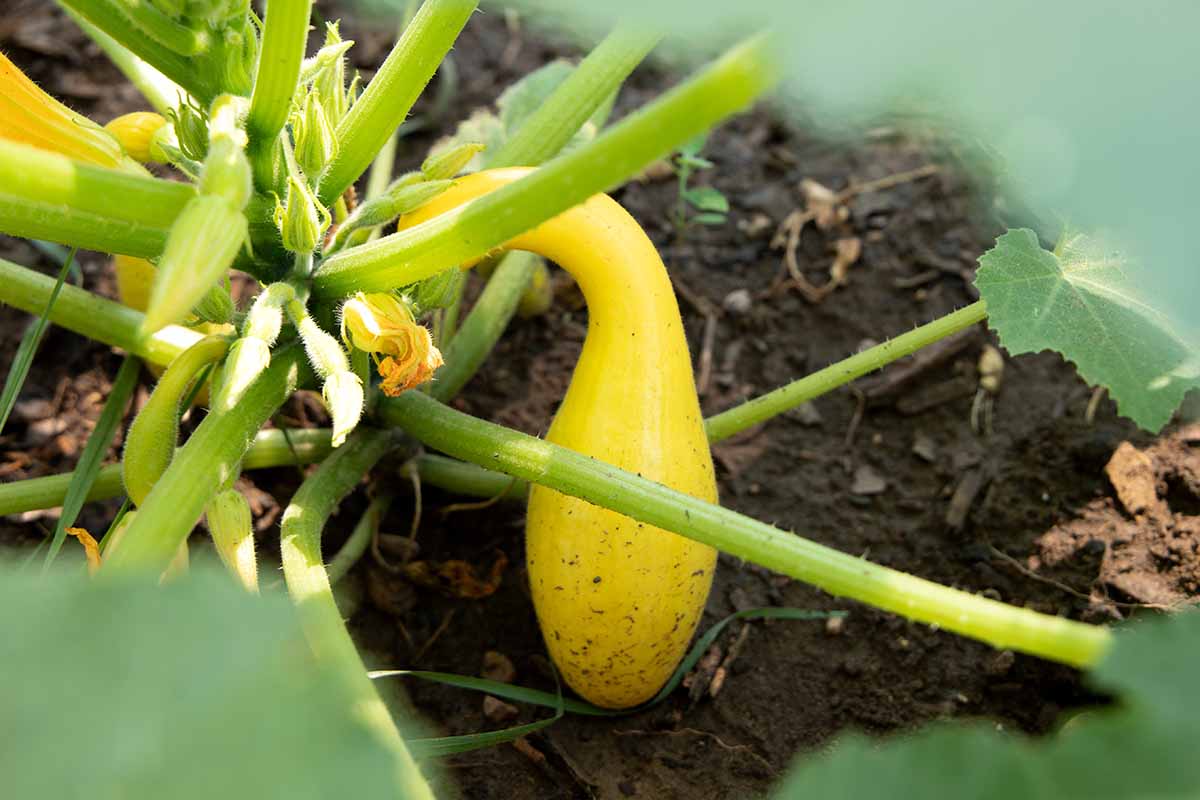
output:
[[[356,711],[396,757],[397,778],[403,787],[397,796],[432,800],[432,792],[367,678],[362,660],[342,622],[320,553],[320,534],[329,515],[391,445],[389,433],[360,428],[322,462],[283,512],[280,548],[288,593],[300,610],[301,624],[317,657],[346,675],[355,696]]]

